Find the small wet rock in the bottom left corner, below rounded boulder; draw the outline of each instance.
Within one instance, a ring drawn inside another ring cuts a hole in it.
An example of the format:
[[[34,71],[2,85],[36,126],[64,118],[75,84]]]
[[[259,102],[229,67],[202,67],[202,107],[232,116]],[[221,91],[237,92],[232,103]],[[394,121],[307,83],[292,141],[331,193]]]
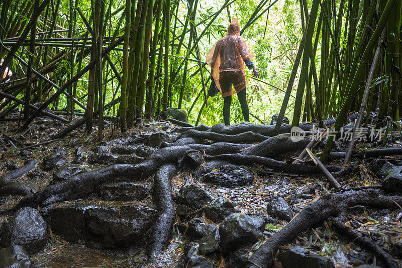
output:
[[[32,260],[22,246],[9,246],[0,250],[0,267],[31,268]]]

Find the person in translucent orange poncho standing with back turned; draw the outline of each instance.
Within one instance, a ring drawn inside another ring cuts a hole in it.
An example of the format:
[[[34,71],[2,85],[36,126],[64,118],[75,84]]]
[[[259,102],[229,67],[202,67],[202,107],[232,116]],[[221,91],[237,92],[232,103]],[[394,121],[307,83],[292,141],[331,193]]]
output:
[[[254,77],[259,77],[251,61],[252,57],[246,42],[240,36],[238,19],[230,23],[226,36],[219,39],[207,54],[206,62],[211,66],[212,84],[215,83],[224,100],[223,118],[227,126],[230,125],[230,105],[235,93],[242,108],[244,121],[249,121],[245,65],[253,70]]]

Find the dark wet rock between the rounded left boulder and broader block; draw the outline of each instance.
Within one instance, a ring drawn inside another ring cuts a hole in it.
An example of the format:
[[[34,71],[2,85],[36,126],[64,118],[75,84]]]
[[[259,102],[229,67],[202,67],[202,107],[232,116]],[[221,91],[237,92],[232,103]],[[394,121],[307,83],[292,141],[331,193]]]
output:
[[[79,243],[85,241],[86,236],[85,211],[96,207],[84,204],[51,205],[43,208],[41,212],[49,221],[54,234],[69,242]]]

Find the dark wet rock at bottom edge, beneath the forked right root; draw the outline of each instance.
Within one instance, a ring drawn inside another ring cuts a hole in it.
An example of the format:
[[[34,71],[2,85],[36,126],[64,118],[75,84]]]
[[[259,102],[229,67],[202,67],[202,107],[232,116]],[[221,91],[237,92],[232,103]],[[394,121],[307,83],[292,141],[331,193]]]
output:
[[[310,254],[309,250],[301,246],[281,249],[278,260],[282,263],[282,268],[293,268],[295,263],[300,268],[335,268],[330,259]]]

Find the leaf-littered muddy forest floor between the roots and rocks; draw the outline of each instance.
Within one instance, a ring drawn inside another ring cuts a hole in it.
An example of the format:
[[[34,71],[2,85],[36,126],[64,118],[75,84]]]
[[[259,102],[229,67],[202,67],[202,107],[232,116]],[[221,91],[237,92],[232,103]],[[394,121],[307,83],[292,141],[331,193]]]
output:
[[[80,118],[74,117],[74,120]],[[83,127],[78,128],[63,139],[56,142],[35,147],[20,153],[18,149],[29,145],[38,144],[51,140],[51,136],[64,127],[62,123],[53,119],[36,118],[30,128],[25,131],[19,130],[19,122],[0,122],[0,176],[7,174],[12,169],[23,166],[27,159],[38,160],[39,166],[46,156],[51,155],[56,149],[65,150],[65,156],[68,162],[71,162],[75,155],[74,151],[81,147],[85,151],[91,150],[95,146],[105,145],[106,142],[117,138],[129,138],[138,134],[151,132],[166,132],[175,128],[172,123],[165,121],[146,122],[140,128],[133,128],[122,135],[119,129],[112,129],[112,124],[106,124],[104,130],[104,139],[97,141],[97,131],[94,128],[89,136],[83,135]],[[11,143],[9,142],[11,141]],[[399,157],[386,157],[392,161],[400,161]],[[339,164],[339,163],[338,163]],[[371,168],[371,160],[361,161],[354,171],[344,178],[343,188],[353,188],[361,186],[381,184],[381,176],[376,175]],[[87,164],[87,168],[100,168],[99,165]],[[38,171],[31,172],[18,179],[26,185],[29,185],[36,191],[43,190],[53,180],[53,173],[58,168],[45,171],[38,168]],[[258,165],[249,165],[247,169],[254,176],[254,181],[249,186],[224,188],[210,183],[197,180],[191,172],[182,172],[172,179],[172,189],[174,195],[179,191],[182,185],[192,184],[201,189],[217,193],[234,205],[235,211],[252,216],[270,217],[267,213],[267,199],[271,196],[281,196],[292,208],[296,216],[307,205],[319,200],[326,193],[333,193],[329,189],[324,176],[298,176],[269,170]],[[152,180],[152,178],[150,178]],[[317,184],[322,188],[317,188]],[[312,188],[313,187],[313,188]],[[322,189],[322,190],[320,190]],[[0,199],[0,209],[10,208],[16,205],[21,198],[8,196]],[[82,201],[82,200],[81,200]],[[151,202],[152,197],[148,196],[139,203],[145,204]],[[70,201],[65,201],[65,203]],[[90,204],[98,202],[94,197],[89,197],[83,202]],[[110,202],[107,202],[110,203]],[[402,251],[402,226],[401,209],[370,209],[363,206],[354,207],[349,210],[349,220],[346,225],[357,230],[360,233],[369,234],[372,240],[379,242],[383,248],[387,248],[393,255],[399,255]],[[3,223],[10,219],[9,217],[0,218]],[[211,220],[200,215],[205,222],[216,224]],[[0,224],[1,224],[0,223]],[[176,224],[174,226],[174,236],[170,245],[160,255],[153,264],[147,264],[143,249],[135,248],[108,248],[99,249],[88,246],[85,243],[74,244],[63,240],[59,235],[50,232],[50,239],[43,250],[32,255],[37,267],[182,267],[185,245],[191,239],[186,235],[186,226],[188,218],[176,215]],[[269,237],[287,224],[286,220],[276,219],[274,223],[266,225],[265,237]],[[377,261],[374,254],[362,249],[359,245],[353,243],[349,238],[339,234],[334,230],[331,221],[316,228],[310,228],[300,233],[296,239],[285,247],[299,245],[308,249],[311,253],[324,256],[338,267],[352,267],[358,264],[381,264]],[[208,257],[217,267],[230,267],[221,254],[213,254]],[[279,267],[280,263],[275,262]]]

